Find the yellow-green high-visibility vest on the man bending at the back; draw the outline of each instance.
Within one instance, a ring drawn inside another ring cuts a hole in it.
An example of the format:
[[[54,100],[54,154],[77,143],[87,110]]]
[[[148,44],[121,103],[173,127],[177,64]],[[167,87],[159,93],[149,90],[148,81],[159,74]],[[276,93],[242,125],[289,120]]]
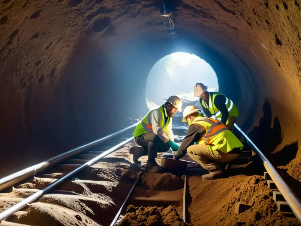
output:
[[[222,93],[216,93],[216,92],[208,92],[209,94],[209,106],[207,105],[207,103],[202,100],[202,105],[204,108],[207,108],[210,113],[212,114],[211,118],[222,118],[222,113],[219,111],[218,108],[216,108],[215,104],[214,104],[214,99],[217,95],[223,95],[225,96],[224,94]],[[229,112],[229,116],[234,116],[234,117],[238,117],[239,115],[239,112],[238,112],[238,109],[236,107],[236,105],[233,103],[233,101],[231,101],[228,97],[226,97],[226,106],[228,108],[228,112]],[[214,117],[215,115],[215,117]]]

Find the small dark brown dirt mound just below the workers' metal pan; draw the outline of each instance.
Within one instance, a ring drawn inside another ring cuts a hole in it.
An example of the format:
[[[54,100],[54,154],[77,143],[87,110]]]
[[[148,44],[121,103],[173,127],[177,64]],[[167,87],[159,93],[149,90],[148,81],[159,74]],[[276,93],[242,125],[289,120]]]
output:
[[[149,190],[173,191],[183,188],[184,181],[170,173],[146,172],[141,176],[143,187]]]

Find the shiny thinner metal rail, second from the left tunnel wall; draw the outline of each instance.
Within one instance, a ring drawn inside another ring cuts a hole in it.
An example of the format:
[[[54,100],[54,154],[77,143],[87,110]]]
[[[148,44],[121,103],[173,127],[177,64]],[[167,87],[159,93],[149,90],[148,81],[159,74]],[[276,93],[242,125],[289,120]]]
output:
[[[101,153],[100,155],[98,155],[94,159],[91,159],[89,162],[79,166],[78,168],[74,169],[70,173],[66,174],[64,177],[61,177],[60,179],[54,181],[52,184],[50,184],[48,187],[44,188],[43,190],[40,190],[40,191],[32,194],[31,196],[27,197],[26,199],[23,199],[21,202],[17,203],[16,205],[12,206],[11,208],[3,211],[2,213],[0,213],[0,221],[5,219],[5,218],[10,217],[12,214],[19,211],[20,209],[23,209],[29,203],[35,201],[36,199],[38,199],[39,197],[41,197],[42,195],[44,195],[45,193],[47,193],[48,191],[50,191],[51,189],[56,187],[57,185],[64,182],[64,180],[66,180],[67,178],[69,178],[69,177],[73,176],[74,174],[78,173],[79,171],[81,171],[83,168],[92,165],[93,163],[95,163],[99,159],[102,159],[105,156],[107,156],[107,155],[111,154],[112,152],[116,151],[116,149],[118,149],[119,147],[121,147],[121,146],[125,145],[126,143],[130,142],[133,138],[134,137],[131,137],[131,138],[117,144],[116,146],[108,149],[107,151],[105,151],[104,153]]]

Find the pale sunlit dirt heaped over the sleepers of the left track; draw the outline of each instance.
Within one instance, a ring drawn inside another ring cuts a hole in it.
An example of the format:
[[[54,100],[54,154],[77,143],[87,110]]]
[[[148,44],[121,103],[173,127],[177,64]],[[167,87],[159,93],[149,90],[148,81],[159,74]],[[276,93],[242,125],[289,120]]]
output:
[[[112,155],[115,157],[128,152],[128,148],[123,148]],[[133,183],[124,181],[122,177],[130,163],[119,157],[113,159],[114,162],[112,158],[107,160],[110,162],[97,162],[56,187],[58,190],[72,191],[72,195],[51,191],[42,196],[39,202],[15,213],[9,221],[24,225],[109,225]],[[55,171],[56,168],[51,170]],[[56,181],[54,177],[60,173],[53,172],[49,176],[51,178],[30,177],[16,185],[11,192],[0,193],[0,210],[8,209],[38,189],[45,188]]]

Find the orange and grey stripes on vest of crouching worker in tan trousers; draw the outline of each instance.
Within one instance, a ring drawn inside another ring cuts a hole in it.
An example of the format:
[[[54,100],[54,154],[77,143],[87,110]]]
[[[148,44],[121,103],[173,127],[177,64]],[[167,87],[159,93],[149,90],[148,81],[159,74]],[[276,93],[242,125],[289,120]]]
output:
[[[208,124],[211,124],[210,128],[208,130],[206,129],[205,135],[200,139],[200,140],[205,139],[206,145],[210,144],[210,138],[216,136],[217,134],[221,133],[222,131],[228,130],[228,128],[218,120],[205,118],[205,117],[200,117],[200,118],[196,118],[196,119],[197,120],[193,121],[192,124],[194,124],[194,123],[199,124],[198,122],[206,122]],[[201,123],[200,123],[200,125],[201,125]]]

